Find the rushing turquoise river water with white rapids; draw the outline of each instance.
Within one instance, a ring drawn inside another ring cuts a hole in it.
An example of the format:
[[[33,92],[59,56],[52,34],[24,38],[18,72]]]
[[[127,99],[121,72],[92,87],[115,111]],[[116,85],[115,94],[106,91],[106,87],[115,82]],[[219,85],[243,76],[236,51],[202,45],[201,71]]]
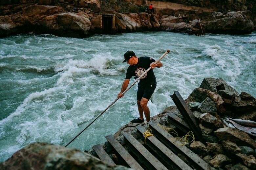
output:
[[[95,35],[86,39],[17,35],[0,39],[0,161],[32,142],[65,145],[117,97],[125,78],[123,54],[158,59],[151,115],[185,99],[204,77],[223,78],[256,96],[256,32],[192,36],[171,32]],[[131,82],[134,80],[132,79]],[[81,150],[138,116],[132,87],[68,147]]]

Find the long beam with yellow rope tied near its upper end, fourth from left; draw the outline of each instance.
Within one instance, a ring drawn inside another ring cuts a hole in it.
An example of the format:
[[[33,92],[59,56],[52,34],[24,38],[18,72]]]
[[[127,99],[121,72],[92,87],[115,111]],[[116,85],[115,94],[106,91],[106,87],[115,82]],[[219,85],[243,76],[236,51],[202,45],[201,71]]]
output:
[[[137,132],[139,132],[141,139],[144,140],[143,133],[146,131],[141,125],[136,126]],[[155,154],[157,154],[162,163],[168,165],[168,169],[181,169],[192,170],[184,161],[182,161],[177,155],[175,155],[170,149],[162,144],[155,136],[149,136],[146,138],[146,144],[152,148]]]

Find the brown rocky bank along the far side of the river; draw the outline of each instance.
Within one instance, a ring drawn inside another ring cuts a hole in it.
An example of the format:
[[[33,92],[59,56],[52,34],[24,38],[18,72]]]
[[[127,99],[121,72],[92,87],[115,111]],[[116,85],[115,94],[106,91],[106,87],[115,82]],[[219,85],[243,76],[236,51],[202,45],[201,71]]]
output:
[[[150,1],[149,1],[150,2]],[[149,3],[148,2],[148,3]],[[101,34],[102,14],[113,15],[111,33],[171,31],[200,35],[249,34],[255,16],[249,10],[216,11],[162,2],[153,14],[144,11],[145,2],[111,0],[9,0],[0,4],[0,37],[34,32],[57,36],[87,37]],[[164,6],[165,5],[165,6]],[[79,8],[77,8],[79,7]],[[178,14],[186,14],[178,18]],[[201,24],[198,20],[201,19]],[[254,23],[253,23],[254,21]]]

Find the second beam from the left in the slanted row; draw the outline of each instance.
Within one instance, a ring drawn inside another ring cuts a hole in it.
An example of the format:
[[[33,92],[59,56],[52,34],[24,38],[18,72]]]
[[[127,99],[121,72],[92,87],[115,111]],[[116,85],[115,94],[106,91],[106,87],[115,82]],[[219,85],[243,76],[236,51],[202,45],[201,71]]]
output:
[[[128,153],[125,148],[114,138],[113,135],[105,136],[109,144],[113,146],[117,154],[123,159],[124,166],[129,166],[133,169],[143,170],[137,161]]]

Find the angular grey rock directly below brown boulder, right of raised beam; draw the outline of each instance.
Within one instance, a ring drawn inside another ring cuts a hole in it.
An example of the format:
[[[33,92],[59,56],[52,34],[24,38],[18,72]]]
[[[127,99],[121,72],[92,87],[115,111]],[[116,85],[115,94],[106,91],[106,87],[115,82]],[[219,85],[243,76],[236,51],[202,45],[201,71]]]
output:
[[[211,115],[214,115],[214,116],[217,112],[215,102],[209,97],[203,100],[203,102],[198,106],[197,109],[202,113],[210,113]]]

